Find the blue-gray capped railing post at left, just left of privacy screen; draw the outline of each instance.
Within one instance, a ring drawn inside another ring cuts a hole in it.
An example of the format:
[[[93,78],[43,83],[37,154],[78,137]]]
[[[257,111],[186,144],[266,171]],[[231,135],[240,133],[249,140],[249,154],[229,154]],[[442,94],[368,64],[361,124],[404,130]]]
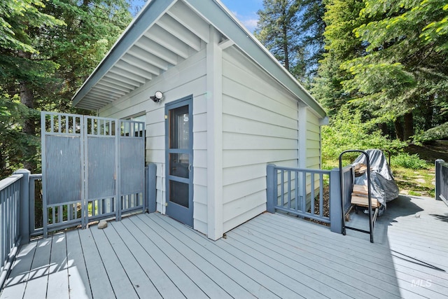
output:
[[[22,237],[22,244],[29,243],[29,175],[28,169],[18,169],[14,174],[22,174],[20,179],[20,221],[19,232]]]

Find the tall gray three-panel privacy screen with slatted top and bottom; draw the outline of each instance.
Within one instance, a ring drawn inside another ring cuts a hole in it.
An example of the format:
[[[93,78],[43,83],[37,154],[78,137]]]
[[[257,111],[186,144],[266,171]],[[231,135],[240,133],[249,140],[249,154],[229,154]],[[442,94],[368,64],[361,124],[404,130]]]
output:
[[[41,112],[43,235],[146,209],[145,124]]]

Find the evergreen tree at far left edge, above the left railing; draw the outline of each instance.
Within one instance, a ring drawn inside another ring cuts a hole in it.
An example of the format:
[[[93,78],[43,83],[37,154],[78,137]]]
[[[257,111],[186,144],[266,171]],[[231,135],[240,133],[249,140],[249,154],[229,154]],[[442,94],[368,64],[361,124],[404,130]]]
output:
[[[34,166],[38,140],[34,138],[32,93],[29,83],[45,81],[56,65],[31,59],[39,53],[30,31],[44,25],[63,25],[42,13],[40,0],[0,3],[0,177],[18,167]]]

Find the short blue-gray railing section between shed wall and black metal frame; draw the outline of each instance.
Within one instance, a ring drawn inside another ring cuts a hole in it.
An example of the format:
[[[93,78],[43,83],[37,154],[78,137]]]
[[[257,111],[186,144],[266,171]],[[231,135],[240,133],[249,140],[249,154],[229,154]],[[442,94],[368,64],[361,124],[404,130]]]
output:
[[[342,212],[339,181],[339,169],[267,165],[267,211],[282,211],[328,223],[332,231],[340,233]],[[325,209],[328,209],[328,214],[324,214]]]

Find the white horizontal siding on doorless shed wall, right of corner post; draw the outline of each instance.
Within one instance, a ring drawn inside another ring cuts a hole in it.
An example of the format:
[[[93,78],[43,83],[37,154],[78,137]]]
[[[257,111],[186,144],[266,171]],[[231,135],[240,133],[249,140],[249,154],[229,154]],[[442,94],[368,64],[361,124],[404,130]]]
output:
[[[235,48],[223,52],[223,228],[266,209],[266,166],[297,167],[298,103]]]

